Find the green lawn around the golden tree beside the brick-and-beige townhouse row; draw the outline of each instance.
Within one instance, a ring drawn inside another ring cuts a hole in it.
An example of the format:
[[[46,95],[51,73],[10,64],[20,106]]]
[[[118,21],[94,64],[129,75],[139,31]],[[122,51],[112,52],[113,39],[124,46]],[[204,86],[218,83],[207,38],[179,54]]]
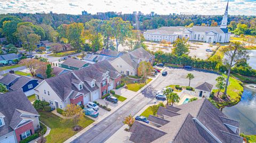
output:
[[[50,134],[45,137],[46,142],[64,142],[77,133],[72,130],[75,126],[74,122],[66,121],[65,123],[61,123],[60,117],[51,112],[41,111],[39,114],[39,120],[51,128]],[[85,128],[93,122],[93,120],[85,117],[83,120],[79,121],[78,125]]]

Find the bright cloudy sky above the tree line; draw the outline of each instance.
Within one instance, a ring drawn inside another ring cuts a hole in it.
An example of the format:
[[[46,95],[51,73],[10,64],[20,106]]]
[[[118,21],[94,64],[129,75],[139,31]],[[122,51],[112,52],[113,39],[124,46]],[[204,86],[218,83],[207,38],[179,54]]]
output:
[[[83,10],[97,12],[132,13],[141,11],[149,14],[188,12],[202,15],[222,15],[227,0],[0,0],[0,13],[66,13],[81,14]],[[230,15],[256,15],[256,0],[230,0]]]

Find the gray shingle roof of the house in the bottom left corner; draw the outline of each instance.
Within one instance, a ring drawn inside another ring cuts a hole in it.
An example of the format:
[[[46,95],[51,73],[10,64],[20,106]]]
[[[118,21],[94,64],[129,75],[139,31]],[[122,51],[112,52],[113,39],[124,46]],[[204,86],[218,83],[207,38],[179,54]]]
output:
[[[15,114],[18,114],[17,112],[21,111],[39,115],[33,105],[29,102],[26,95],[23,93],[22,89],[10,91],[0,95],[0,112],[5,116],[5,125],[0,127],[0,136],[13,131],[13,129],[10,127],[10,122],[12,120],[12,125],[17,124],[20,119],[15,119],[16,116],[13,115],[14,112],[16,112]]]

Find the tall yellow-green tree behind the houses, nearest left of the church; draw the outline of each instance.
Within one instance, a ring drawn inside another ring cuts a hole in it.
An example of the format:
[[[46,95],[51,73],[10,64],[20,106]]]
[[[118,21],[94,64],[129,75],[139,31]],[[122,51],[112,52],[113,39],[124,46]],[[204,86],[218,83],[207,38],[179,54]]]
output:
[[[124,43],[125,39],[131,35],[132,26],[129,21],[124,21],[122,18],[110,18],[111,35],[116,40],[116,51],[119,44]]]

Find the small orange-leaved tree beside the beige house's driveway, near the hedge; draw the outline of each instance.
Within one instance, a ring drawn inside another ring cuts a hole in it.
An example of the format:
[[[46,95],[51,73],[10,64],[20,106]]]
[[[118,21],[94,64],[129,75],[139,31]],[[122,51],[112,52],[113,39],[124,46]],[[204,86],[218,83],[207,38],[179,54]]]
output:
[[[141,61],[138,67],[138,75],[142,78],[142,80],[146,83],[148,79],[148,75],[153,71],[153,66],[151,63],[146,61]]]

